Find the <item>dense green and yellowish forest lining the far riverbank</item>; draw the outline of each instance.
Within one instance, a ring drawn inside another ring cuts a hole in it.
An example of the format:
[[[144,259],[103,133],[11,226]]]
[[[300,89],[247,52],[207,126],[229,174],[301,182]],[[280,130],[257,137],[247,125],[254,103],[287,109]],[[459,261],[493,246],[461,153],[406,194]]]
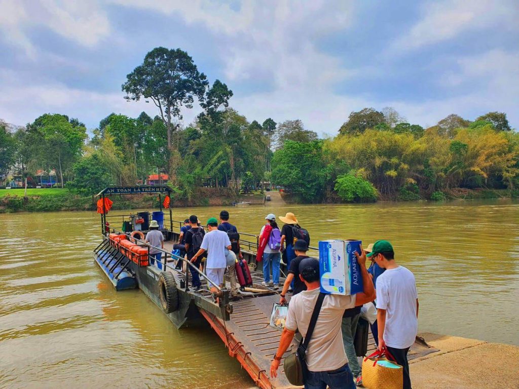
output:
[[[0,175],[52,169],[58,186],[91,195],[165,173],[177,198],[204,186],[237,194],[272,183],[292,201],[314,203],[442,200],[458,188],[516,193],[519,185],[519,134],[504,113],[452,114],[424,129],[391,107],[364,108],[320,139],[298,119],[248,120],[231,108],[227,85],[210,85],[186,52],[166,48],[149,52],[122,90],[129,101],[152,101],[157,115],[112,113],[87,131],[78,119],[44,114],[15,133],[4,128]],[[201,113],[181,126],[181,108],[195,102]]]

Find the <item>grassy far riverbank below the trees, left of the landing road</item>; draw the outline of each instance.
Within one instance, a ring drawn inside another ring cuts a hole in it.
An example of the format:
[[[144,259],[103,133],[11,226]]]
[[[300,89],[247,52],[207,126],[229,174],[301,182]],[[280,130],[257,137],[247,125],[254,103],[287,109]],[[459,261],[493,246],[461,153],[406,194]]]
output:
[[[23,189],[0,189],[0,213],[9,212],[49,212],[49,211],[95,211],[92,196],[80,195],[68,189],[28,189],[27,198]],[[230,205],[233,202],[251,201],[260,203],[263,195],[232,196],[226,189],[198,188],[190,199],[175,199],[174,207]],[[116,196],[114,210],[158,208],[157,195]]]

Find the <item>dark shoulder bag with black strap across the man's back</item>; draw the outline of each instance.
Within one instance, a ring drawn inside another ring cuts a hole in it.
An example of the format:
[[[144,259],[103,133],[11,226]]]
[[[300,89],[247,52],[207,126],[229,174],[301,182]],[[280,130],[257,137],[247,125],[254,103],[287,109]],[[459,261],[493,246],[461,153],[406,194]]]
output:
[[[312,317],[310,318],[310,324],[308,325],[305,339],[302,339],[301,342],[299,342],[299,346],[295,353],[292,352],[283,360],[286,379],[288,379],[292,385],[302,386],[305,384],[307,372],[306,349],[308,348],[308,343],[310,343],[313,329],[316,326],[317,317],[321,311],[324,296],[324,293],[319,293],[319,296],[317,297],[316,306],[313,308]]]

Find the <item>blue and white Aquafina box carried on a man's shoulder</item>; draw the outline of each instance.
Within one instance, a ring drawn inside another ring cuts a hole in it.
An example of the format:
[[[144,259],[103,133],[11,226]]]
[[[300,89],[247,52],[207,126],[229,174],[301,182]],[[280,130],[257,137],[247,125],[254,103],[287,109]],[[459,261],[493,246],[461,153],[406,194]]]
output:
[[[319,242],[321,291],[334,295],[356,294],[363,290],[362,275],[354,252],[361,241],[327,240]]]

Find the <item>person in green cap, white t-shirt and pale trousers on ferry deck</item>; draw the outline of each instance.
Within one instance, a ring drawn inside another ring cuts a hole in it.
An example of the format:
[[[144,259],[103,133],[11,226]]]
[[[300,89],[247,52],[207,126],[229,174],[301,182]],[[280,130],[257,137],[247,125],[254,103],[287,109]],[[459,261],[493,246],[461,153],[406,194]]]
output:
[[[191,262],[196,262],[198,257],[207,251],[206,274],[209,280],[220,287],[224,283],[224,272],[227,267],[225,259],[225,248],[231,249],[229,235],[226,232],[218,230],[218,220],[211,217],[207,220],[207,228],[209,230],[203,236],[200,249],[193,256]],[[211,285],[211,292],[217,295],[218,289]]]

